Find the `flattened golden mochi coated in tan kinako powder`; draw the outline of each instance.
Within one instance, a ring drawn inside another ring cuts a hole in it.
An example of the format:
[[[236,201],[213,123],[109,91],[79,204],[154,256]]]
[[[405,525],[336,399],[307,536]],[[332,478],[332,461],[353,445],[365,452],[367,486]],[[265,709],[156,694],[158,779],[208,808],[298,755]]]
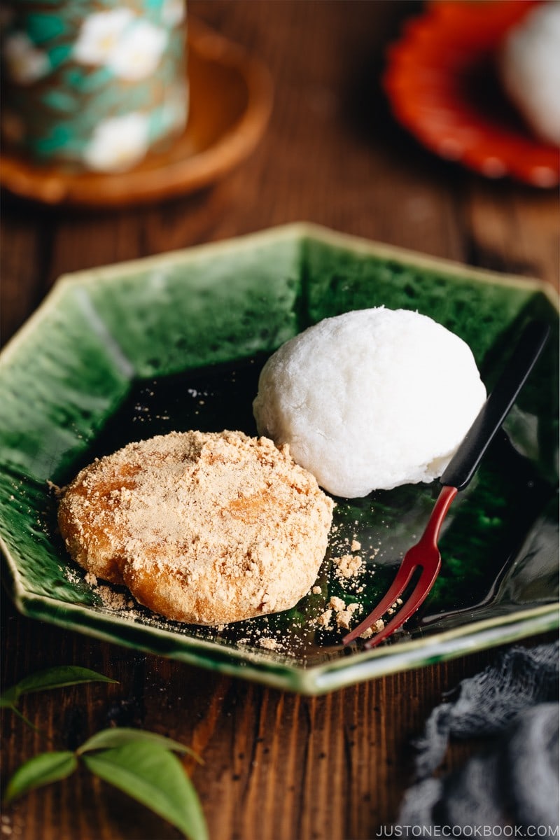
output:
[[[181,622],[289,609],[327,549],[332,500],[287,446],[241,432],[173,432],[97,459],[65,488],[71,556]]]

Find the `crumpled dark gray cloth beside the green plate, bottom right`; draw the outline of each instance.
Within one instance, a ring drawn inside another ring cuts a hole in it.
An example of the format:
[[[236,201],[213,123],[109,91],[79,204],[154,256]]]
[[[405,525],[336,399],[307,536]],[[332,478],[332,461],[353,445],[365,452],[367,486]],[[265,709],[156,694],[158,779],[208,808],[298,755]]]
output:
[[[558,643],[511,648],[463,680],[415,743],[416,783],[394,836],[558,837]],[[483,738],[433,778],[450,738]]]

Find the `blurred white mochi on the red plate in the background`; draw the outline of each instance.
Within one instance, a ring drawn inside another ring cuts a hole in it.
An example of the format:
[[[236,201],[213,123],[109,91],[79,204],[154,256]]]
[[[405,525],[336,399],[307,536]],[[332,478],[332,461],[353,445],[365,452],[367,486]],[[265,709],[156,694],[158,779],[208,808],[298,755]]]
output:
[[[560,145],[560,3],[539,5],[511,29],[499,68],[505,91],[534,133]]]

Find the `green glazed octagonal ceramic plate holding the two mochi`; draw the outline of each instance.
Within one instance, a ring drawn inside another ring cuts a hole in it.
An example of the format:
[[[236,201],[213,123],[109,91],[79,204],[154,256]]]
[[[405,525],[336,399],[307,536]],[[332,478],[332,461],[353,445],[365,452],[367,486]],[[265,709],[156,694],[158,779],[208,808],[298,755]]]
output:
[[[317,585],[275,616],[192,627],[86,582],[56,531],[50,482],[172,429],[256,433],[264,360],[321,318],[381,304],[458,333],[489,390],[529,318],[553,333],[506,433],[453,504],[442,573],[403,631],[371,651],[345,649],[343,630],[316,619],[332,596],[359,604],[356,622],[369,612],[421,533],[437,483],[337,500]],[[557,626],[557,314],[539,281],[307,224],[63,277],[0,357],[0,536],[13,600],[69,630],[306,694]],[[332,559],[348,553],[363,570],[340,578]]]

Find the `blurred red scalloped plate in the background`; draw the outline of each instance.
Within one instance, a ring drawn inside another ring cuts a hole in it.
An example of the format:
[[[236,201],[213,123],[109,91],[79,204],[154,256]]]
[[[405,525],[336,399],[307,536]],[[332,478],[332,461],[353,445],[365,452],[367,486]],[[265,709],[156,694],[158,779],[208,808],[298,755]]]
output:
[[[383,79],[395,118],[428,149],[489,178],[560,181],[560,150],[531,134],[505,96],[495,55],[538,0],[430,4],[390,47]]]

